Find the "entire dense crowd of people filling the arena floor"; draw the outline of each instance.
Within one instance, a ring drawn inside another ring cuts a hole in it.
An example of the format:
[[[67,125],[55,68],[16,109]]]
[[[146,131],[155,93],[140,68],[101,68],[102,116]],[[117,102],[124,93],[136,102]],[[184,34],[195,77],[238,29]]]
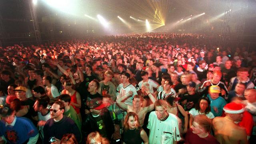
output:
[[[145,33],[0,47],[0,144],[256,142],[256,51]]]

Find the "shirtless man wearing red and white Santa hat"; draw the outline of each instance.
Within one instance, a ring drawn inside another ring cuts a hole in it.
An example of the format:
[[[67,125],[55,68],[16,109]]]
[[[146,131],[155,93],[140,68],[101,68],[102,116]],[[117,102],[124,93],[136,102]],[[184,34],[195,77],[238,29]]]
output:
[[[220,144],[247,144],[246,130],[237,125],[242,120],[243,106],[231,102],[223,110],[226,116],[212,121],[215,138]]]

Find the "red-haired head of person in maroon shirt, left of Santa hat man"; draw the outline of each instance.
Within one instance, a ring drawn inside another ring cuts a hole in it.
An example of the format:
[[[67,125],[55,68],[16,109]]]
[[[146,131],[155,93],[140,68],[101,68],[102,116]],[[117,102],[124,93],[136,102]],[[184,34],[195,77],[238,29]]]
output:
[[[194,117],[191,128],[194,134],[210,133],[212,120],[204,114],[197,115]]]

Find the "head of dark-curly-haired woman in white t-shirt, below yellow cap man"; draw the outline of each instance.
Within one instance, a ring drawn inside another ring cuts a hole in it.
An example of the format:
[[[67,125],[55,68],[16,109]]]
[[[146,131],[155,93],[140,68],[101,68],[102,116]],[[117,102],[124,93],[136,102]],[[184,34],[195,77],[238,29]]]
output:
[[[201,97],[198,100],[198,103],[195,105],[195,109],[208,114],[211,111],[210,100],[207,97]]]

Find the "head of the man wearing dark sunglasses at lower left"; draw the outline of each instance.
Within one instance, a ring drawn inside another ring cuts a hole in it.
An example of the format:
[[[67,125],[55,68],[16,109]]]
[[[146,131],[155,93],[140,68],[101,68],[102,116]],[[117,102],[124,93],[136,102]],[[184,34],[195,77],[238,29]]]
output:
[[[55,101],[50,108],[51,118],[60,120],[65,112],[65,105],[62,101]]]

